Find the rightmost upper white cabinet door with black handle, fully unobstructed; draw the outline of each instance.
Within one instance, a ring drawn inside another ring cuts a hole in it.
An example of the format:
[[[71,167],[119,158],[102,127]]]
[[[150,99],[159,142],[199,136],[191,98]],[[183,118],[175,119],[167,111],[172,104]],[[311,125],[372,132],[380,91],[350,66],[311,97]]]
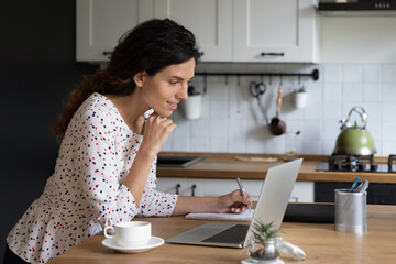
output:
[[[234,0],[235,62],[314,62],[312,0]]]

